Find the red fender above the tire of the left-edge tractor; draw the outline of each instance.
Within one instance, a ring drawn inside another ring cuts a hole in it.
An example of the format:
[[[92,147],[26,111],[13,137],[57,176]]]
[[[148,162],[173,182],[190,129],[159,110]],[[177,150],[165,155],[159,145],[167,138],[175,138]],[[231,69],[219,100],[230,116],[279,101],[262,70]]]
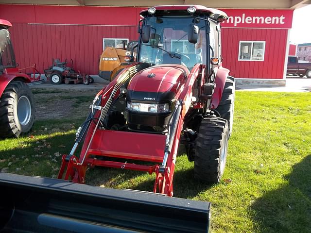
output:
[[[25,83],[30,83],[31,80],[27,74],[18,72],[17,67],[14,68],[5,68],[3,74],[0,75],[0,97],[6,86],[11,83],[12,80],[18,79]]]

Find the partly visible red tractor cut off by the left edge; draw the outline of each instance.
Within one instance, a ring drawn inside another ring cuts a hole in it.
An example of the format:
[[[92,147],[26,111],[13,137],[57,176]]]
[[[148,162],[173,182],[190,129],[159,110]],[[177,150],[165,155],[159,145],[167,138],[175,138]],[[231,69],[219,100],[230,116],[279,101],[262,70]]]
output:
[[[9,27],[9,21],[0,19],[0,138],[29,132],[35,120],[34,98],[27,85],[32,80],[17,68]]]

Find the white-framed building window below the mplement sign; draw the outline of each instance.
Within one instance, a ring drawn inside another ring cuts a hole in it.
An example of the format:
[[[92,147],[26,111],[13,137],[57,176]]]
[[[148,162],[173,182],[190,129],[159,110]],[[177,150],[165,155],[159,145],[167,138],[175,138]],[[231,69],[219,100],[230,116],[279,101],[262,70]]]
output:
[[[263,61],[265,41],[240,41],[239,61]]]

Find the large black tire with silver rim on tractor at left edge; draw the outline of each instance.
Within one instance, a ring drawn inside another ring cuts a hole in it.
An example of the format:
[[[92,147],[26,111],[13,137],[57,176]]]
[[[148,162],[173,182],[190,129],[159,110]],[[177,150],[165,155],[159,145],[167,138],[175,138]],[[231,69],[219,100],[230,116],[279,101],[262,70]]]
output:
[[[12,81],[0,98],[0,138],[18,137],[29,132],[34,120],[34,97],[29,86]]]

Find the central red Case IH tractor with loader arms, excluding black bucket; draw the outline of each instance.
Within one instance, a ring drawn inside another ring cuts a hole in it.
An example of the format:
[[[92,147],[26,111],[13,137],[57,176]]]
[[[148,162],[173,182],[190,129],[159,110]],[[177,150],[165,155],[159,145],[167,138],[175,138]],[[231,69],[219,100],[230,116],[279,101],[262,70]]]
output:
[[[96,95],[58,178],[85,183],[94,166],[140,170],[156,174],[155,193],[173,196],[182,143],[194,176],[219,183],[235,94],[234,78],[222,67],[220,22],[227,15],[199,5],[155,6],[140,15],[137,62]]]

